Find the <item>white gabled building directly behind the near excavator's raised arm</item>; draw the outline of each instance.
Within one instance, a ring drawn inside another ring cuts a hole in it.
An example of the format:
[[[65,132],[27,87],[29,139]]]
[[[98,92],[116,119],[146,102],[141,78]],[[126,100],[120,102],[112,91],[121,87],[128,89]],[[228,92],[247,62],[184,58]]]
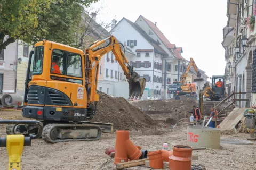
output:
[[[119,21],[111,34],[118,40],[125,42],[130,47],[134,57],[129,57],[129,64],[134,67],[140,77],[145,77],[146,87],[150,89],[153,96],[159,94],[163,77],[162,77],[162,58],[168,54],[158,45],[157,41],[150,38],[138,24],[123,18]]]

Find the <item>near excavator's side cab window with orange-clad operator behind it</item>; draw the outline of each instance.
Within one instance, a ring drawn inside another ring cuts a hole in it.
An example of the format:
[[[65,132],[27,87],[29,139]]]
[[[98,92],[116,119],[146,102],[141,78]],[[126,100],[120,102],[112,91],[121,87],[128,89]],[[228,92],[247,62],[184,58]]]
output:
[[[52,52],[51,73],[58,74],[58,78],[52,77],[55,80],[70,81],[82,84],[82,57],[79,54],[66,52],[59,49],[54,49]],[[74,77],[74,79],[61,79],[61,75]]]

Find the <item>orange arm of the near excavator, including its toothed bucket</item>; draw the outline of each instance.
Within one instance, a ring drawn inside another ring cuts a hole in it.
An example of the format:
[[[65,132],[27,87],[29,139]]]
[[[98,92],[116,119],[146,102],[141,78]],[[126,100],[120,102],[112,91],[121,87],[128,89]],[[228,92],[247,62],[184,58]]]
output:
[[[109,40],[109,43],[103,47],[100,47],[101,44],[105,43]],[[123,51],[122,48],[123,47]],[[97,48],[98,47],[98,48]],[[97,48],[97,49],[94,49]],[[86,67],[87,69],[92,69],[91,74],[87,75],[86,78],[91,82],[91,87],[94,91],[97,89],[97,81],[98,81],[98,68],[99,68],[99,60],[108,52],[112,52],[115,55],[115,60],[119,63],[128,79],[129,83],[129,98],[141,98],[143,91],[146,86],[146,79],[140,78],[137,72],[133,71],[133,66],[129,65],[127,58],[125,57],[125,48],[123,44],[119,43],[114,36],[110,36],[101,41],[95,42],[89,49],[86,49],[87,60]],[[86,55],[85,54],[85,55]],[[94,76],[93,76],[94,75]],[[93,100],[93,93],[91,93],[90,100]]]

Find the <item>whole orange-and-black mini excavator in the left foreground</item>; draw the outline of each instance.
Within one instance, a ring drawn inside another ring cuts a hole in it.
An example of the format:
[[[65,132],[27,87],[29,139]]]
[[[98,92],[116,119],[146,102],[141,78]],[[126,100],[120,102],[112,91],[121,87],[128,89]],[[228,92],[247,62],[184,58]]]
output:
[[[105,42],[108,44],[102,46]],[[42,138],[46,142],[99,140],[101,132],[113,132],[111,123],[87,121],[97,110],[99,60],[108,52],[115,55],[128,79],[129,98],[140,99],[146,79],[133,71],[124,46],[114,36],[95,41],[85,53],[47,40],[35,44],[29,55],[22,116],[43,123]],[[54,71],[55,65],[61,73]],[[37,131],[35,124],[6,127],[7,134],[29,135]]]

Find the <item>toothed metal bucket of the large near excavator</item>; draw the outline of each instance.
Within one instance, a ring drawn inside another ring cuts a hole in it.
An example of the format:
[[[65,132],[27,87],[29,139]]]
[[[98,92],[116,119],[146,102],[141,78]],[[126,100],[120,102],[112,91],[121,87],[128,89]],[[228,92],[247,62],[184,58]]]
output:
[[[146,79],[137,76],[133,80],[129,80],[129,99],[140,99],[146,87]]]

